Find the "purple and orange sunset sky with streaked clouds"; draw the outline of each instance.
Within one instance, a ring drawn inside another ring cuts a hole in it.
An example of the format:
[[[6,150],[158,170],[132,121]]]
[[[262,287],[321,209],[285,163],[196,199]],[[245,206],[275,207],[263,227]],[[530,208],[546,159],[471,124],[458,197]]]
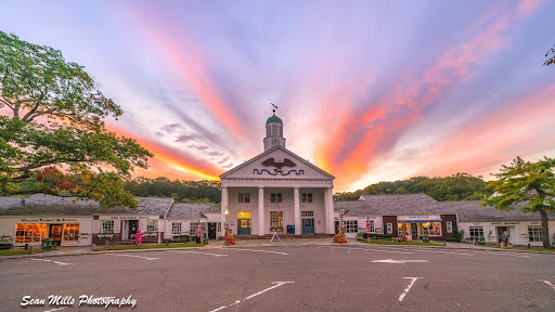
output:
[[[1,2],[124,109],[107,128],[155,154],[137,177],[218,179],[270,103],[334,192],[555,157],[555,1]]]

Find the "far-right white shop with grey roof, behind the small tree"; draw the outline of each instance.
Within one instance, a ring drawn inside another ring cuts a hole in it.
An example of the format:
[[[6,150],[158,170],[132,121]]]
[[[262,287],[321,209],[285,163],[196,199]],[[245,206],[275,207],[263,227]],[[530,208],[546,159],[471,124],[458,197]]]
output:
[[[539,213],[521,212],[524,204],[511,211],[493,207],[482,207],[481,200],[443,202],[459,216],[459,230],[464,231],[465,240],[483,237],[488,243],[501,243],[504,231],[508,233],[508,244],[542,246],[542,222]],[[551,244],[555,235],[555,213],[547,213]]]

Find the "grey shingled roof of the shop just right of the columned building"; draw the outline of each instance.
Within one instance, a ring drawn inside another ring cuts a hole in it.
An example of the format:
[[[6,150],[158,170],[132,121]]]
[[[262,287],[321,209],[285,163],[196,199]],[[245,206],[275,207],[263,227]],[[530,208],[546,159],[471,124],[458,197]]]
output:
[[[335,211],[349,210],[344,216],[400,216],[453,213],[452,209],[426,194],[362,195],[364,200],[335,202]]]

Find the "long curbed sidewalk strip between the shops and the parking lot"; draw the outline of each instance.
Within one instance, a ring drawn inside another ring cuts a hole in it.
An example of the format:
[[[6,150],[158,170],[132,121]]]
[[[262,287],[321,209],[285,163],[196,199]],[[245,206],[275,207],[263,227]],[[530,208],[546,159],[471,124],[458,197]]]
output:
[[[403,247],[417,247],[417,248],[446,248],[446,249],[474,249],[474,250],[489,250],[498,252],[537,252],[537,253],[551,253],[547,251],[540,250],[518,250],[518,249],[501,249],[491,248],[480,245],[467,244],[467,243],[452,243],[447,242],[446,246],[422,246],[422,245],[372,245],[366,243],[357,242],[354,237],[347,238],[348,243],[335,244],[332,243],[332,238],[298,238],[298,239],[283,239],[282,242],[271,242],[270,239],[243,239],[236,240],[235,245],[223,246],[223,240],[210,240],[208,245],[203,247],[178,247],[178,248],[153,248],[153,249],[124,249],[124,250],[104,250],[104,251],[91,251],[90,246],[82,247],[57,247],[55,250],[34,253],[34,255],[17,255],[17,256],[4,256],[0,257],[0,261],[4,259],[20,259],[20,258],[43,258],[43,257],[61,257],[61,256],[78,256],[78,255],[102,255],[107,252],[140,252],[140,251],[163,251],[163,250],[178,250],[178,249],[219,249],[219,248],[257,248],[257,247],[286,247],[286,246],[349,246],[349,247],[370,247],[380,246],[390,248],[403,248]]]

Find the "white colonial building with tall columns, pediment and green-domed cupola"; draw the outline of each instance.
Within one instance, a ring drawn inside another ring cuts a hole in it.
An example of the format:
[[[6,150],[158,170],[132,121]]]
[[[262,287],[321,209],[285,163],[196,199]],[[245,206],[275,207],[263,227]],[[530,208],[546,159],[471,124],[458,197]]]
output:
[[[333,234],[332,174],[285,148],[283,122],[266,123],[264,152],[220,176],[221,222],[234,235]],[[225,216],[228,209],[228,216]]]

